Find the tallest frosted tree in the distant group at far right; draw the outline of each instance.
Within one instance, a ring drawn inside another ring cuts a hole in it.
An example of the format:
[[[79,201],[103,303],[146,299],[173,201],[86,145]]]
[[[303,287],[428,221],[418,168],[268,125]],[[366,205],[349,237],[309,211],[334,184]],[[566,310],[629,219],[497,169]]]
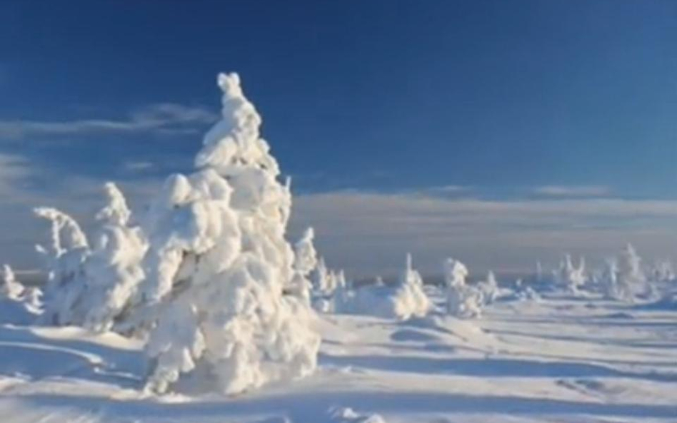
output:
[[[605,294],[614,300],[632,302],[638,295],[648,295],[651,291],[641,258],[629,243],[618,258],[608,260],[601,282]]]

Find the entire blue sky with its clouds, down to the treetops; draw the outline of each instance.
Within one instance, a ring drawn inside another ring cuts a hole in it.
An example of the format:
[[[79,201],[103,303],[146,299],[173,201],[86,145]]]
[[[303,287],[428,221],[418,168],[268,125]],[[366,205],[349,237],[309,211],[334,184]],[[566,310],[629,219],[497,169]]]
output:
[[[141,207],[190,171],[219,71],[294,177],[292,233],[315,225],[330,263],[671,256],[676,21],[650,0],[3,1],[0,260],[35,265],[34,203],[86,220],[104,180]]]

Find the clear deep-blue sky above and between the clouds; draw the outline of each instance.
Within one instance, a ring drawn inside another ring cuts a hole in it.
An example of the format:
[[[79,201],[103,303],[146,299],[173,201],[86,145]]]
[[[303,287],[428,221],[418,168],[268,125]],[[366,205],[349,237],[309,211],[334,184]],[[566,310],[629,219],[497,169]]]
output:
[[[4,1],[0,40],[5,121],[216,111],[215,74],[238,71],[302,190],[675,193],[674,1]],[[130,157],[187,167],[198,143],[102,131],[2,148],[110,175]]]

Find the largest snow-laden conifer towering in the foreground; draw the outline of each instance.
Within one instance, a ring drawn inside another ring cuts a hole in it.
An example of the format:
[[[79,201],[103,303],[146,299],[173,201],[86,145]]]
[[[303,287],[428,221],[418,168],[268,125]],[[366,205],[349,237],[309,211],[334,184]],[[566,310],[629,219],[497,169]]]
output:
[[[141,325],[149,327],[147,386],[209,374],[236,394],[316,367],[319,335],[304,300],[285,295],[311,267],[312,233],[285,240],[289,182],[259,136],[261,117],[234,73],[219,75],[223,113],[204,137],[196,172],[173,175],[151,205]]]

